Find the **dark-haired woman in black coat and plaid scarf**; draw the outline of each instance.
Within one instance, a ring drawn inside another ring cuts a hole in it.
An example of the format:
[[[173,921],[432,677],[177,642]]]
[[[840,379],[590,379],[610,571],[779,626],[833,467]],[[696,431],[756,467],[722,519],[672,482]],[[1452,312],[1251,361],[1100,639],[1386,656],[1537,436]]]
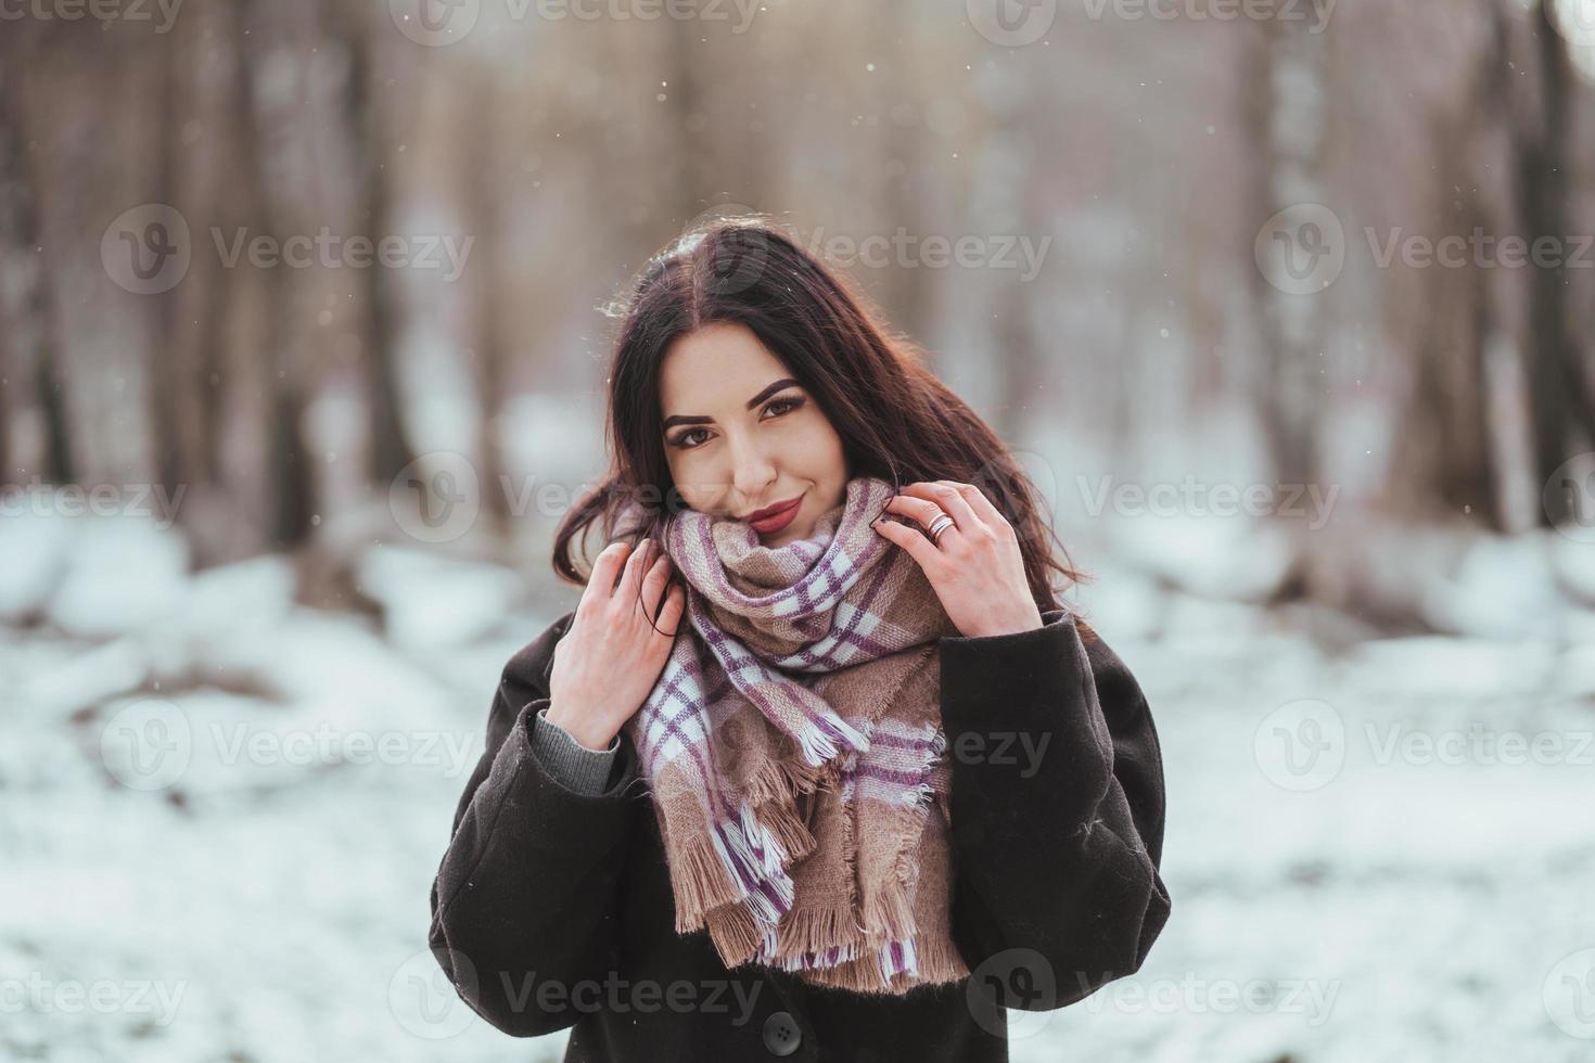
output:
[[[968,1061],[1136,972],[1158,736],[990,429],[764,220],[648,265],[609,386],[432,885],[461,998],[568,1061]]]

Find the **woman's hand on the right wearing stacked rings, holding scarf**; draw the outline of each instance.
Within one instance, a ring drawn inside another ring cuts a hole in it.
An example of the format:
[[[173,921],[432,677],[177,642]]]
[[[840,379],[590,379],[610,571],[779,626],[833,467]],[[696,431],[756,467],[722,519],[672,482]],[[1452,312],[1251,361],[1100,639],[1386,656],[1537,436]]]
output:
[[[924,569],[941,607],[965,637],[1016,634],[1042,626],[1030,596],[1019,537],[979,488],[952,480],[909,483],[887,512],[925,531],[946,513],[952,526],[931,542],[908,524],[877,518],[872,528],[908,550]]]

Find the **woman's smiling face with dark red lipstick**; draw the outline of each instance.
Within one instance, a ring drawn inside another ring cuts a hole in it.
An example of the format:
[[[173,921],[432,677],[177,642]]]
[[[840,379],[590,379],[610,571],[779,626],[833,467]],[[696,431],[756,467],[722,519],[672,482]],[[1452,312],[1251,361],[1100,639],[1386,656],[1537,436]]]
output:
[[[761,545],[805,539],[847,497],[842,437],[746,325],[716,322],[670,344],[659,402],[681,499],[748,523]],[[769,521],[750,520],[791,502]]]

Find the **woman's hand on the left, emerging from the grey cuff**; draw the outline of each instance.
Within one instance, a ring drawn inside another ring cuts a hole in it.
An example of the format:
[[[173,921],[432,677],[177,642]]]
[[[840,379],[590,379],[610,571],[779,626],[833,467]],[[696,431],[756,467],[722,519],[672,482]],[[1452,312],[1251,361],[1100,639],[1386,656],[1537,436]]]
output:
[[[605,547],[569,630],[553,645],[549,722],[589,749],[608,749],[659,681],[684,610],[670,558],[648,539],[636,548],[620,540]]]

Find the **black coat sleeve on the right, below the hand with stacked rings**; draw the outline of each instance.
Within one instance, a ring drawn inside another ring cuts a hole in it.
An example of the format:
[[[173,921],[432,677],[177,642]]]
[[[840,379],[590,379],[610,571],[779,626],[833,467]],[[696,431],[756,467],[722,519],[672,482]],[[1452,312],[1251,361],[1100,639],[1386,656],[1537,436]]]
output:
[[[1163,759],[1139,684],[1064,610],[941,641],[952,932],[1006,1007],[1051,1010],[1134,974],[1169,918]]]

